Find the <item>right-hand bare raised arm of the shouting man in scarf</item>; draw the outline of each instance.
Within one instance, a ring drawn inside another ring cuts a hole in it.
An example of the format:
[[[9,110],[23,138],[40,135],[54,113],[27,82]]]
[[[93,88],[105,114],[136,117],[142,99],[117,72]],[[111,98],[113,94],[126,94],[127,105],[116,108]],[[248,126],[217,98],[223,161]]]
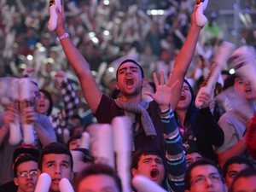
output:
[[[199,34],[201,32],[202,26],[196,26],[195,24],[195,11],[191,15],[191,26],[189,28],[188,36],[183,44],[182,49],[180,50],[179,54],[174,63],[174,67],[172,69],[172,73],[169,75],[169,85],[171,86],[174,82],[178,82],[177,86],[175,86],[175,90],[172,92],[172,99],[171,99],[171,106],[172,110],[175,110],[177,107],[177,102],[179,101],[180,94],[183,87],[183,79],[187,73],[189,68],[189,64],[193,59],[195,54],[195,47],[198,41]]]

